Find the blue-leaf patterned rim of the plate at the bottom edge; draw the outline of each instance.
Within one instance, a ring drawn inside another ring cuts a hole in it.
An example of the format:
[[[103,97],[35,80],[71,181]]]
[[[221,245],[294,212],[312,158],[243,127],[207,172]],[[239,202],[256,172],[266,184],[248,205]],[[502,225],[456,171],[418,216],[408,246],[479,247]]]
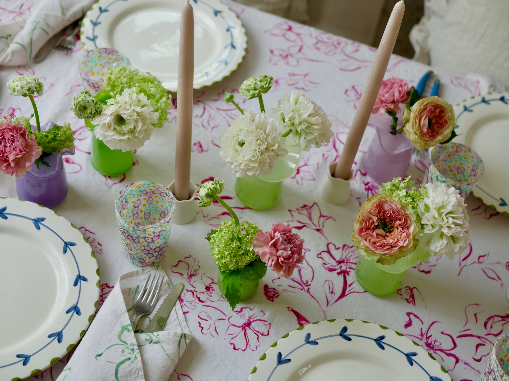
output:
[[[302,375],[313,368],[313,358],[330,351],[358,351],[359,347],[365,359],[387,353],[394,366],[408,372],[409,379],[452,381],[444,367],[415,341],[387,327],[353,319],[319,321],[287,333],[260,357],[248,381],[283,381],[285,376]],[[304,357],[309,357],[305,363]],[[292,358],[296,363],[292,364]],[[379,376],[373,374],[372,379]]]

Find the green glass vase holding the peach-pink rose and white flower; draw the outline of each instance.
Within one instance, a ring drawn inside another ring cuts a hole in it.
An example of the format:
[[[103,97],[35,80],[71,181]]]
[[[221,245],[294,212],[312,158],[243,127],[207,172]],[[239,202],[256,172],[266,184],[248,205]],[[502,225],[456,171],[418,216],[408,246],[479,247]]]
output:
[[[359,257],[355,277],[361,287],[373,295],[383,296],[395,293],[401,288],[407,269],[419,262],[427,261],[431,254],[418,245],[414,252],[400,258],[393,265],[382,265],[373,259]]]

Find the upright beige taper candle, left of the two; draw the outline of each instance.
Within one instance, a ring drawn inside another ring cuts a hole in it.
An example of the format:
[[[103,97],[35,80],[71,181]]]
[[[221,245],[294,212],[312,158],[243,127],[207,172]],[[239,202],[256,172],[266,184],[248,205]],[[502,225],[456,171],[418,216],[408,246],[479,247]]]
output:
[[[175,147],[175,198],[189,200],[194,76],[194,17],[189,0],[180,18],[179,79],[177,84],[177,139]]]

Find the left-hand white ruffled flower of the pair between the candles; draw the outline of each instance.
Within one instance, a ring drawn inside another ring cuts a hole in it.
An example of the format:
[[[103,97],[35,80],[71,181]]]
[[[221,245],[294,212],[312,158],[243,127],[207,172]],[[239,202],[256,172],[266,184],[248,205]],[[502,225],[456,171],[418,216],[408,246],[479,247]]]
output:
[[[260,176],[269,174],[277,157],[288,153],[284,145],[274,118],[246,110],[221,134],[219,155],[237,177]]]

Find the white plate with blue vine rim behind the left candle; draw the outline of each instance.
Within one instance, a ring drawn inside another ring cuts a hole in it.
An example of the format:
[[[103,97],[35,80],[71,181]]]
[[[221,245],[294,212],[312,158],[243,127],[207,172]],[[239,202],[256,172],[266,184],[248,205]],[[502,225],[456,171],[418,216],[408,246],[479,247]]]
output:
[[[247,49],[242,22],[219,0],[191,0],[194,11],[194,88],[232,74]],[[113,48],[132,66],[177,91],[180,14],[184,0],[99,0],[81,24],[85,50]]]

